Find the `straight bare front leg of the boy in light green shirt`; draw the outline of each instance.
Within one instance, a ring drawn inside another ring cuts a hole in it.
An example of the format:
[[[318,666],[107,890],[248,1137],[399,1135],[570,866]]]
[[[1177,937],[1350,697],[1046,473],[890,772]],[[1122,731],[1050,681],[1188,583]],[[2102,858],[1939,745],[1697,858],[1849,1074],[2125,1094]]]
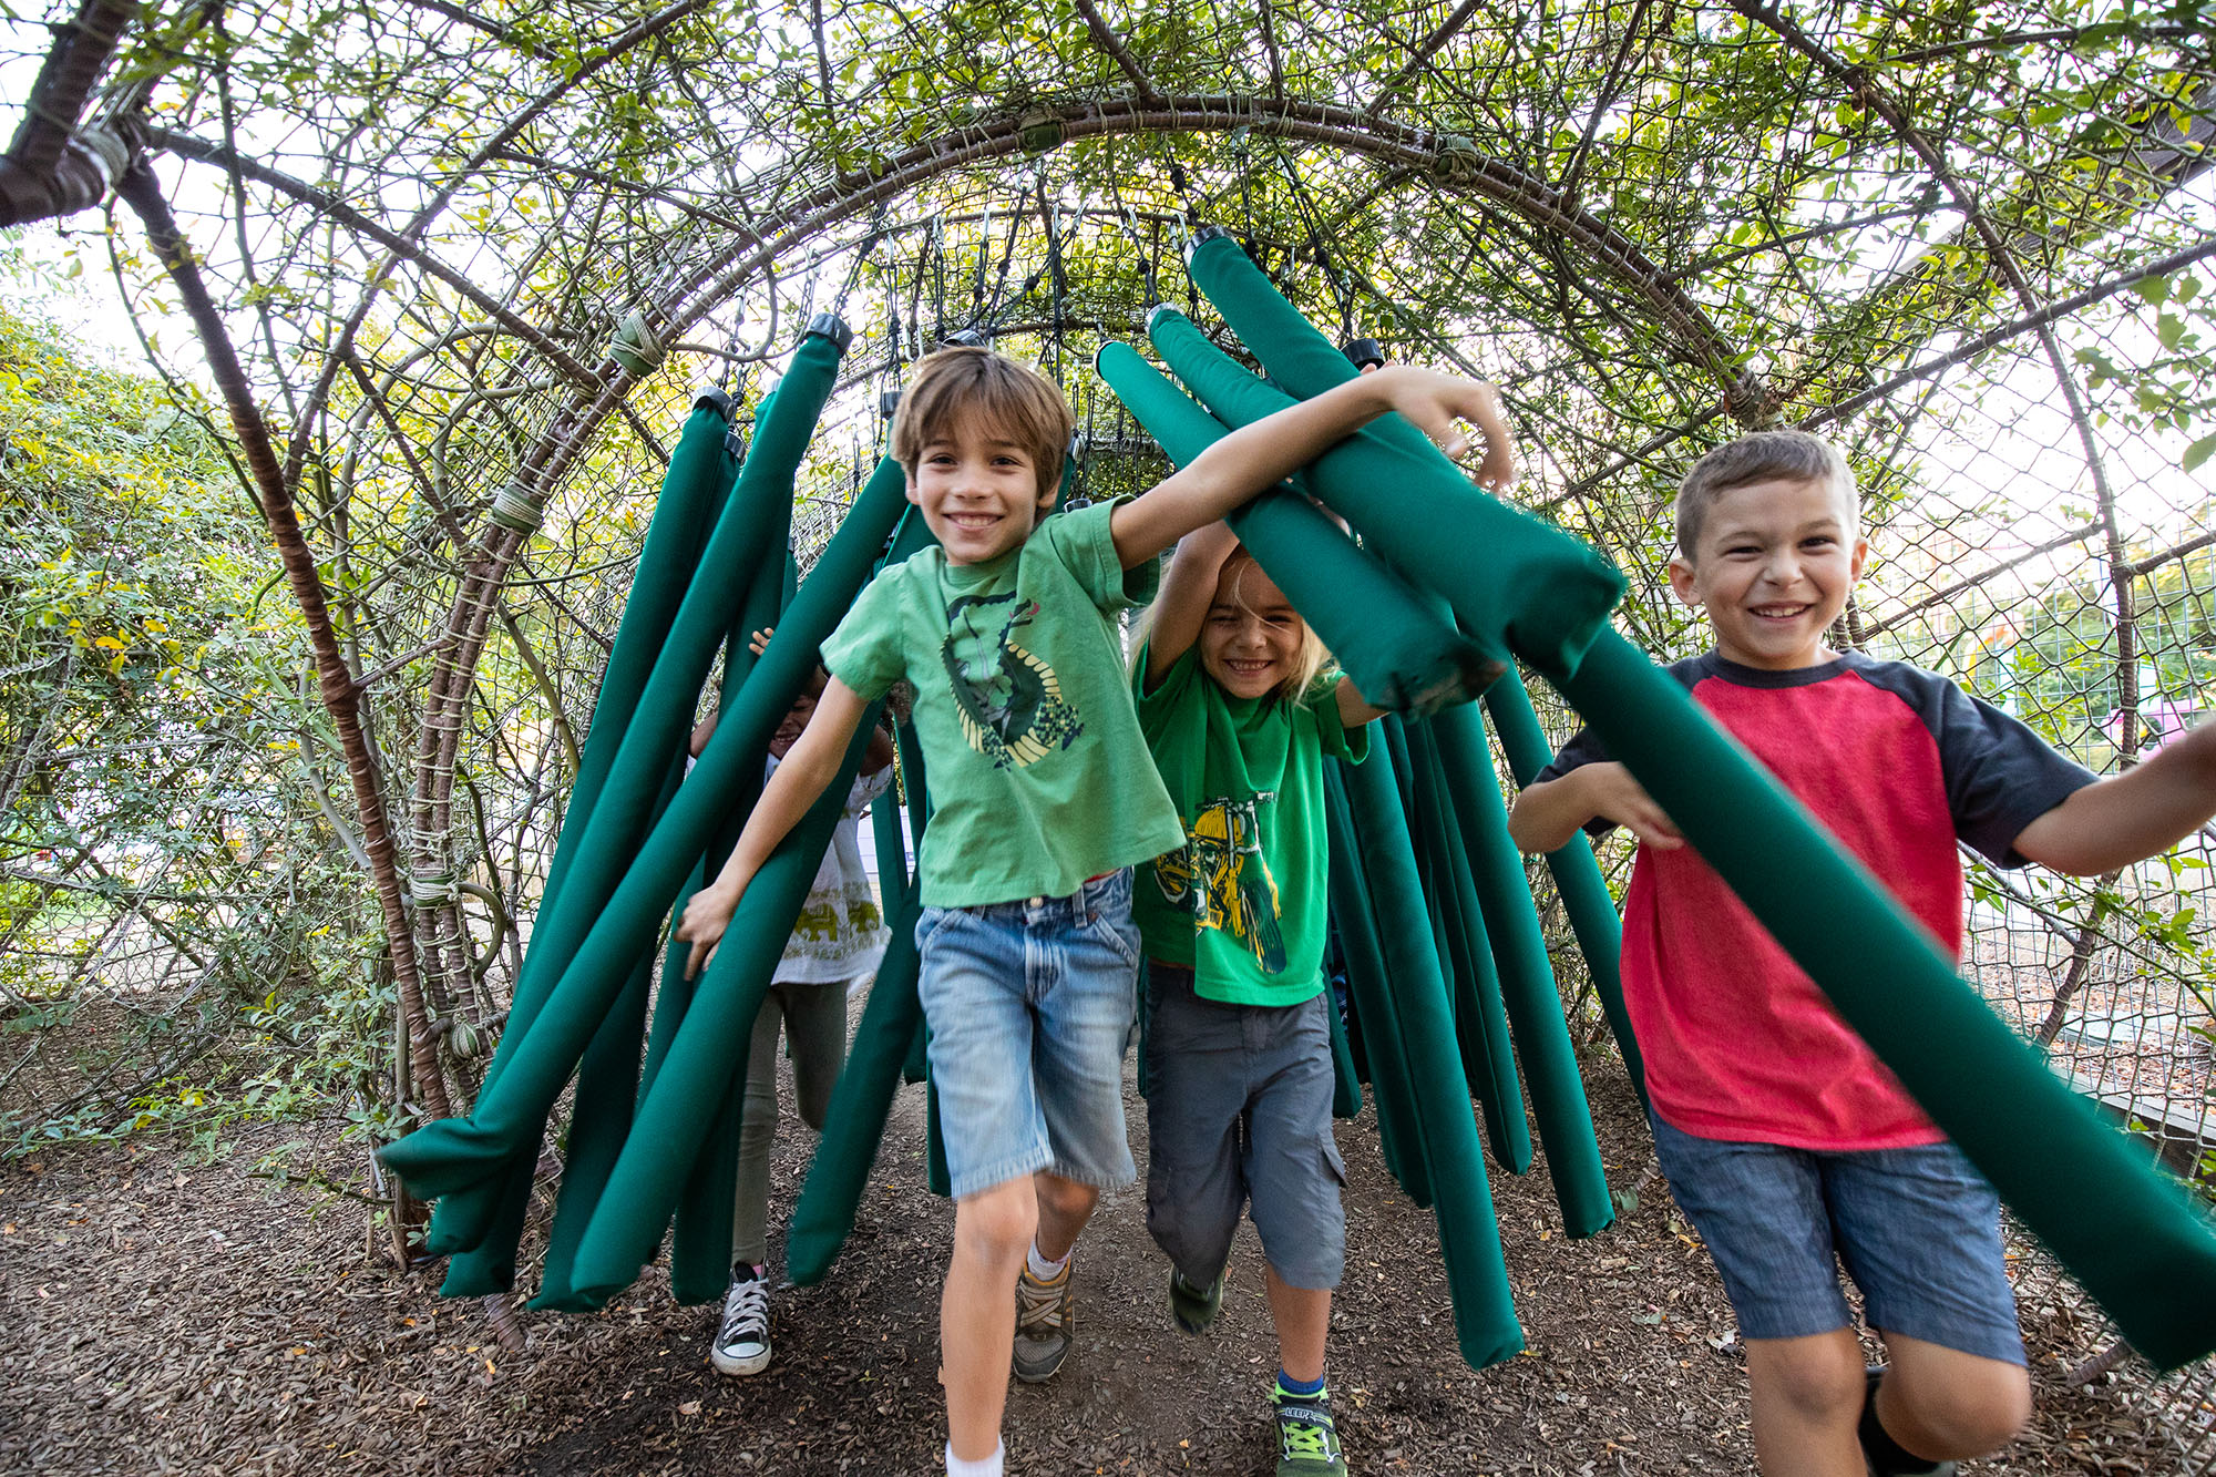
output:
[[[955,1202],[955,1253],[940,1293],[940,1384],[946,1442],[964,1461],[984,1461],[999,1446],[1015,1348],[1015,1277],[1035,1231],[1039,1200],[1030,1180],[1006,1180]]]

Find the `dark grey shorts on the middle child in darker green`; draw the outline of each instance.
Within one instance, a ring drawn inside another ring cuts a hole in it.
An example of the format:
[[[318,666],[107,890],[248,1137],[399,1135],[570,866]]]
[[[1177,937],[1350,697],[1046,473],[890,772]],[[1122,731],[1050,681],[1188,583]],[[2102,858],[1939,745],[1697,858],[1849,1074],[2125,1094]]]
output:
[[[1332,1138],[1332,996],[1223,1005],[1192,971],[1148,967],[1146,1229],[1208,1286],[1248,1206],[1270,1266],[1299,1288],[1338,1286],[1347,1167]]]

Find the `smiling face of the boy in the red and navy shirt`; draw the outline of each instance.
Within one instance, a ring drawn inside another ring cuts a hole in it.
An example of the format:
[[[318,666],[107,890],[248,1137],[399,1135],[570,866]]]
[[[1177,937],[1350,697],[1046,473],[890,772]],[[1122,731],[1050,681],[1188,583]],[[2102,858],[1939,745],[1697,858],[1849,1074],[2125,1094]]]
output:
[[[1720,656],[1786,672],[1830,659],[1824,632],[1868,552],[1830,479],[1768,477],[1713,495],[1693,557],[1671,559],[1669,583],[1709,610]]]

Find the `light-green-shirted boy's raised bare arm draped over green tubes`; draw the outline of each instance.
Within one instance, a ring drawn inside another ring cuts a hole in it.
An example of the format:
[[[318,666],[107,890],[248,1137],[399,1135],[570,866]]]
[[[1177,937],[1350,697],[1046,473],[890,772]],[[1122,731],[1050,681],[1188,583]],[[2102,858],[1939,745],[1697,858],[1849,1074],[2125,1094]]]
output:
[[[1405,415],[1449,457],[1469,452],[1467,437],[1454,426],[1456,417],[1467,417],[1485,432],[1480,477],[1496,490],[1507,486],[1514,452],[1494,386],[1392,364],[1241,426],[1148,492],[1121,503],[1108,523],[1117,559],[1126,570],[1152,559],[1387,410]]]

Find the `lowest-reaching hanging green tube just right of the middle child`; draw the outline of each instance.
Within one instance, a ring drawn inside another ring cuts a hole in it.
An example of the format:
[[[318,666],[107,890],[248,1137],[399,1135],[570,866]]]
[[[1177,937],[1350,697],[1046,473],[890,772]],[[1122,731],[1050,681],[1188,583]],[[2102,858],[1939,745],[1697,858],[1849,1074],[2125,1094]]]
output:
[[[1432,1180],[1432,1213],[1438,1220],[1438,1251],[1454,1297],[1454,1333],[1469,1368],[1487,1368],[1522,1353],[1516,1300],[1500,1255],[1500,1224],[1478,1122],[1463,1087],[1463,1065],[1454,1056],[1454,1022],[1447,1018],[1447,987],[1438,958],[1423,947],[1423,887],[1407,818],[1394,803],[1394,776],[1385,754],[1341,770],[1354,836],[1369,878],[1385,945],[1389,1009],[1398,1016],[1407,1051],[1407,1082],[1416,1098],[1416,1133]]]

